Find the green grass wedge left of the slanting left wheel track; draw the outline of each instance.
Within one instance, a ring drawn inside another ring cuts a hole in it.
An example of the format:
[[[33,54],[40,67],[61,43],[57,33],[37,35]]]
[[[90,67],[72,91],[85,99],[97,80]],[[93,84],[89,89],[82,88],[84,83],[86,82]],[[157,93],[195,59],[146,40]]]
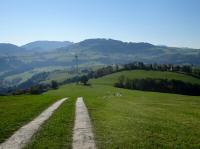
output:
[[[55,100],[61,98],[51,91],[43,95],[21,95],[0,97],[0,142],[14,131],[36,117]]]

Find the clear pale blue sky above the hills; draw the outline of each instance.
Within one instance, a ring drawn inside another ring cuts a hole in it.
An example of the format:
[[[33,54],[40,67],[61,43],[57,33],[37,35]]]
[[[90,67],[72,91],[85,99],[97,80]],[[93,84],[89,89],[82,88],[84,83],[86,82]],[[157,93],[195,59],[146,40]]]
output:
[[[90,38],[200,48],[200,0],[0,0],[0,43]]]

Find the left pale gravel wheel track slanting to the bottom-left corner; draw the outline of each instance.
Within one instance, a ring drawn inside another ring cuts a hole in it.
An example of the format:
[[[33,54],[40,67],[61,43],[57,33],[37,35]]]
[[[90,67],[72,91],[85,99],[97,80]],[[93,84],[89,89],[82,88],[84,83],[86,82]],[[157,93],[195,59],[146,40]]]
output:
[[[42,112],[38,117],[33,121],[21,127],[16,131],[8,140],[0,144],[0,149],[21,149],[23,148],[31,139],[33,134],[37,132],[39,127],[53,114],[53,112],[66,100],[63,98],[48,109]]]

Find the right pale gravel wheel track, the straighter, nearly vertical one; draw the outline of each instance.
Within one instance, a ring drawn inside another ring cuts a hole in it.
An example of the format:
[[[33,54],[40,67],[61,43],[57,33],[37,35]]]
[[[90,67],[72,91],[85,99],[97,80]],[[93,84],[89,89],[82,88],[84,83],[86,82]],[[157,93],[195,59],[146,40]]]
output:
[[[92,125],[82,97],[76,101],[73,149],[96,149]]]

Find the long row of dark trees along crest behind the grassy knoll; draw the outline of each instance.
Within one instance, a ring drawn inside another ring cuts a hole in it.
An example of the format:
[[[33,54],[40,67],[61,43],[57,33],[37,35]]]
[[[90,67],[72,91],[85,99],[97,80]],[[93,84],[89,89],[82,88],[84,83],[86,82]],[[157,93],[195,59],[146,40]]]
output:
[[[143,62],[133,62],[129,64],[123,65],[111,65],[100,68],[96,71],[87,71],[87,74],[83,76],[75,76],[69,78],[62,83],[74,83],[74,82],[82,82],[83,78],[93,79],[93,78],[100,78],[112,73],[124,71],[124,70],[154,70],[154,71],[170,71],[170,72],[177,72],[177,73],[184,73],[187,75],[192,75],[194,77],[200,78],[200,73],[194,73],[192,69],[192,65],[173,65],[173,64],[144,64]]]

